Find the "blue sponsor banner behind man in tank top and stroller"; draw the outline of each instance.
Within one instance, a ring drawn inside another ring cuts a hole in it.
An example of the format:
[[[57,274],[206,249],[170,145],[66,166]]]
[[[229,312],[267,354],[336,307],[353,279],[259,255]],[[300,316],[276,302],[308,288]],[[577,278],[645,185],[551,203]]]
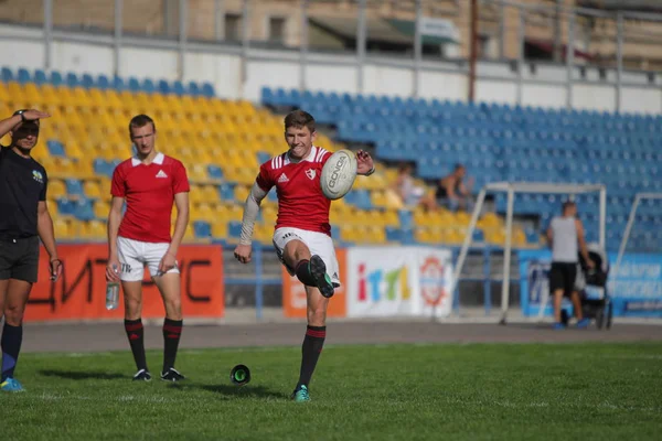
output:
[[[548,272],[552,254],[549,250],[522,250],[520,258],[520,293],[522,313],[537,315],[544,292],[549,292]],[[608,255],[613,266],[617,255]],[[612,268],[613,269],[613,268]],[[618,275],[611,271],[607,281],[607,293],[613,305],[613,316],[662,318],[662,256],[624,255]],[[587,287],[590,295],[594,289]],[[564,306],[572,310],[567,299]],[[552,315],[552,299],[544,308],[544,315]]]

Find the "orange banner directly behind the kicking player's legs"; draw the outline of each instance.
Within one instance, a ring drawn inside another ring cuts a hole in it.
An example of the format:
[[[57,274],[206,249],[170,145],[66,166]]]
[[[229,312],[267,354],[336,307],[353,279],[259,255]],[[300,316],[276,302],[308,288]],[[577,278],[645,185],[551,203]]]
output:
[[[341,287],[335,289],[335,293],[329,300],[328,318],[346,316],[348,302],[345,287],[348,266],[345,256],[345,249],[335,249]],[[296,276],[290,276],[285,267],[282,267],[282,313],[286,318],[306,318],[306,288]]]

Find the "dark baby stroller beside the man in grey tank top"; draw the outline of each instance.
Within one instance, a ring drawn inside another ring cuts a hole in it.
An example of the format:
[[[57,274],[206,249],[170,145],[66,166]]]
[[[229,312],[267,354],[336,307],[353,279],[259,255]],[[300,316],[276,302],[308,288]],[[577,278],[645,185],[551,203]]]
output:
[[[613,305],[607,290],[609,259],[598,244],[588,244],[587,248],[588,257],[594,261],[595,268],[588,268],[586,260],[579,254],[575,289],[579,293],[581,312],[586,319],[595,320],[599,330],[604,326],[610,329]],[[560,315],[562,321],[567,325],[568,312],[564,309]]]

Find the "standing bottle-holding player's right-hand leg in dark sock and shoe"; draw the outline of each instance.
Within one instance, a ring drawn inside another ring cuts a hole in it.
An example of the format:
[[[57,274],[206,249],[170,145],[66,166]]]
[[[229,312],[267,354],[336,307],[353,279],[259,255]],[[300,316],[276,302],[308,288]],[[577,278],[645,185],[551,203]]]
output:
[[[180,275],[179,272],[167,272],[153,279],[161,292],[166,308],[161,379],[179,381],[184,379],[184,376],[174,368],[183,327]]]

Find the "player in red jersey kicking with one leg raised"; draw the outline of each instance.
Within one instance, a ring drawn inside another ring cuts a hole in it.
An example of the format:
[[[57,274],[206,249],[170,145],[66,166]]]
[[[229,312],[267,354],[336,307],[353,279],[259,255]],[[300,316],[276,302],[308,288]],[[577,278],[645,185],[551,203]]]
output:
[[[327,337],[327,306],[333,290],[340,287],[338,260],[331,239],[329,208],[331,201],[322,193],[322,166],[331,157],[313,146],[314,119],[302,110],[285,118],[285,140],[289,150],[259,168],[259,174],[244,206],[242,237],[235,257],[250,261],[252,237],[259,204],[273,186],[278,196],[278,219],[274,247],[291,276],[306,286],[308,327],[301,347],[299,383],[292,392],[296,401],[309,401],[308,385]],[[373,160],[360,150],[357,173],[374,173]]]

